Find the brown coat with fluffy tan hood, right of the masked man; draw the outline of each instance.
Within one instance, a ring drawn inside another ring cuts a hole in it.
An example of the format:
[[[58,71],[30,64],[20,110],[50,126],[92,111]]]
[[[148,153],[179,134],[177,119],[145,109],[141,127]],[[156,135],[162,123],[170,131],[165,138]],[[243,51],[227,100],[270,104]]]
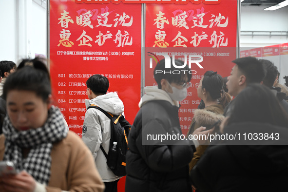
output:
[[[222,115],[223,113],[224,113],[224,108],[222,105],[219,105],[219,104],[209,105],[205,107],[204,109],[195,110],[194,117],[193,117],[188,134],[192,134],[193,131],[195,131],[195,129],[201,126],[209,128],[218,120],[220,120],[220,122],[218,123],[218,127],[219,127],[219,125],[224,119],[224,115]],[[216,130],[213,131],[213,133],[215,132]],[[197,161],[200,159],[202,154],[204,154],[205,150],[207,149],[209,145],[209,140],[207,140],[206,144],[207,145],[200,145],[199,147],[197,147],[196,152],[194,152],[192,161],[189,163],[190,171],[192,170],[194,165],[197,163]]]

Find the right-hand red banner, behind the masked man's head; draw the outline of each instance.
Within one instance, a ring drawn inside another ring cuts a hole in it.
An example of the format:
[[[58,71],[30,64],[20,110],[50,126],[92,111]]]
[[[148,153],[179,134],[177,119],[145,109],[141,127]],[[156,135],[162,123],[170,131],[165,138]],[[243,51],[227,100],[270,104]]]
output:
[[[145,86],[156,85],[153,57],[164,58],[157,54],[191,63],[192,85],[179,109],[183,134],[188,132],[192,113],[200,104],[197,87],[204,73],[212,70],[229,76],[231,61],[236,58],[236,34],[237,0],[214,5],[146,5]]]

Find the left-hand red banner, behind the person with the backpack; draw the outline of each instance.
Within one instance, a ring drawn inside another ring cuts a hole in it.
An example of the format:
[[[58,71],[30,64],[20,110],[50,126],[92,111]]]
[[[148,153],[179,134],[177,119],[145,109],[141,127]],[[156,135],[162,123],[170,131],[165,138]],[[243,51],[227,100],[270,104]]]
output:
[[[50,0],[50,75],[69,129],[81,136],[86,80],[101,74],[131,123],[141,85],[141,5]]]

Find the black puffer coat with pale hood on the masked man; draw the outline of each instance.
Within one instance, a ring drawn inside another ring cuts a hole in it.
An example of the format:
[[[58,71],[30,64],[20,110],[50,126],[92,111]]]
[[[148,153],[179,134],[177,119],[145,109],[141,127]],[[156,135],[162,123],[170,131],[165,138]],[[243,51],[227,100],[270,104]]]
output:
[[[134,124],[128,137],[125,192],[192,192],[188,163],[193,155],[192,142],[177,145],[148,134],[182,134],[178,102],[163,90],[145,87]],[[173,144],[173,145],[172,145]]]

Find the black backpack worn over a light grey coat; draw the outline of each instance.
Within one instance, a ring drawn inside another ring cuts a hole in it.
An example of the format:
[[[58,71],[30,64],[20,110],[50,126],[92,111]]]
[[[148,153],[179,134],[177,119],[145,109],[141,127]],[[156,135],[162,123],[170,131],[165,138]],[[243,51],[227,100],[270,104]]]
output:
[[[108,154],[106,154],[102,145],[100,145],[100,149],[105,155],[107,159],[106,163],[111,171],[117,176],[125,176],[126,153],[128,150],[127,138],[131,129],[131,124],[123,115],[110,114],[94,104],[91,104],[87,109],[89,108],[98,109],[111,119],[111,139]],[[116,146],[114,146],[114,142],[117,142]]]

